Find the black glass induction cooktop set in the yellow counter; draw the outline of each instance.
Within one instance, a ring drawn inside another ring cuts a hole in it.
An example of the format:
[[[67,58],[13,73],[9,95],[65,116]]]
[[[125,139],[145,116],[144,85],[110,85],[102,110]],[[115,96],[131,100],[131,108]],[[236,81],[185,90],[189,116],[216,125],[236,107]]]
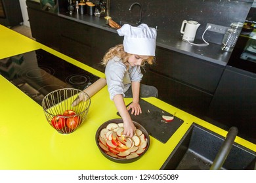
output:
[[[99,78],[42,49],[0,59],[0,74],[39,105],[54,90],[84,90]]]

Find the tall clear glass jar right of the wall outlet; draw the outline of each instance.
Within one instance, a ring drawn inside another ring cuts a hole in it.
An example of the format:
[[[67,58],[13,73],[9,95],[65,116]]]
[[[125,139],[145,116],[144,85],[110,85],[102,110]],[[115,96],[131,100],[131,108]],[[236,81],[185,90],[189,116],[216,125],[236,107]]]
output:
[[[244,24],[241,22],[233,22],[230,26],[230,29],[227,29],[226,33],[224,34],[221,47],[221,50],[224,50],[226,52],[232,52],[232,50],[234,49],[234,46],[236,44],[236,41],[238,40],[238,36]]]

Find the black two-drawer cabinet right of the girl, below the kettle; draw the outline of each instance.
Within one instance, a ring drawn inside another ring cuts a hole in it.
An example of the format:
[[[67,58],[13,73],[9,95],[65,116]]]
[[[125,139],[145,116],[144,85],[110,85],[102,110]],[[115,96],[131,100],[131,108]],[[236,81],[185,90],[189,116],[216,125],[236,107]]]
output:
[[[156,48],[156,64],[148,71],[147,84],[156,86],[159,98],[196,116],[204,116],[224,67]]]

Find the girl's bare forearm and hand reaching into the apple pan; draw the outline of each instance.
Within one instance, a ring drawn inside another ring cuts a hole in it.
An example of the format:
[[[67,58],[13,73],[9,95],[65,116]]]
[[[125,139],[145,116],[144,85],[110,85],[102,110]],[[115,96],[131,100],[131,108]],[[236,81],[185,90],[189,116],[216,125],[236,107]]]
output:
[[[121,118],[123,119],[123,135],[125,135],[126,137],[133,137],[133,135],[135,134],[136,127],[133,124],[131,116],[125,106],[125,101],[123,101],[123,95],[115,95],[113,101],[116,105],[116,108]]]

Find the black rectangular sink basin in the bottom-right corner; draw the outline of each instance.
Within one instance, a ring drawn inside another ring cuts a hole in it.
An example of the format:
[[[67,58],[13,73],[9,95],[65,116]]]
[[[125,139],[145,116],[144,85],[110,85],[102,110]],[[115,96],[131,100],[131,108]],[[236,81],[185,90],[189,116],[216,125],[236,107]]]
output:
[[[210,169],[224,139],[209,129],[192,124],[161,169]],[[234,142],[221,169],[255,169],[255,163],[256,153]]]

